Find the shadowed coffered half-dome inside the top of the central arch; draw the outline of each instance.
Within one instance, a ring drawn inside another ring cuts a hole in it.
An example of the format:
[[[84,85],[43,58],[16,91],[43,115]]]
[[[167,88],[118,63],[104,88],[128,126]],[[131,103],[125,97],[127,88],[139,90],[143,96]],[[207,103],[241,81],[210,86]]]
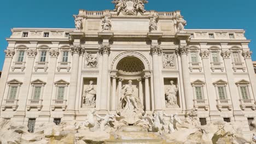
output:
[[[141,59],[133,56],[124,57],[117,64],[118,73],[121,75],[140,75],[144,69]]]

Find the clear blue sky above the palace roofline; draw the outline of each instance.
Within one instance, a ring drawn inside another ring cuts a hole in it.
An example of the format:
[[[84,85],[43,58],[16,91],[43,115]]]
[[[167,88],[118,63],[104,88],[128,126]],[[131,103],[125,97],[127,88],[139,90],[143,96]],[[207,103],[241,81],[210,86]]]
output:
[[[73,28],[72,15],[79,9],[114,9],[112,0],[2,0],[0,2],[0,70],[4,62],[5,38],[14,27]],[[181,10],[186,28],[245,29],[256,61],[255,0],[149,0],[147,10]]]

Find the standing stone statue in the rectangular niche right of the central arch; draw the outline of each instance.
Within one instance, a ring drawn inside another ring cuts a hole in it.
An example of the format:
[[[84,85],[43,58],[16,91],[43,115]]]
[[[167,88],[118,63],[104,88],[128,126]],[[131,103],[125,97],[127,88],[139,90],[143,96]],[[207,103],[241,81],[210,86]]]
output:
[[[170,81],[171,85],[166,89],[165,95],[166,95],[166,106],[178,106],[178,101],[177,101],[177,92],[179,91],[178,89],[178,84],[177,86],[174,85],[173,81]]]

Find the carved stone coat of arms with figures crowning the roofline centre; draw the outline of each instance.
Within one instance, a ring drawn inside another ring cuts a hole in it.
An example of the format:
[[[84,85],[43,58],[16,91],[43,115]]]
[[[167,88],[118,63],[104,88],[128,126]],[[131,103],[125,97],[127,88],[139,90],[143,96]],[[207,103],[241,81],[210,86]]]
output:
[[[146,0],[114,0],[112,3],[115,4],[114,11],[117,11],[117,14],[123,13],[124,15],[137,15],[137,13],[146,12],[145,3],[148,3]]]

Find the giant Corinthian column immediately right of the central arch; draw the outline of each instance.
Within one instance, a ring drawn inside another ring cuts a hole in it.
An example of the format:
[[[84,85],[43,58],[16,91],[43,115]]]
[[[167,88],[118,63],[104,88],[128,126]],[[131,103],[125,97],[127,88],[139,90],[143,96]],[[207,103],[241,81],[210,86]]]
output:
[[[158,56],[162,54],[162,50],[159,45],[152,45],[151,54],[153,58],[153,87],[154,87],[154,106],[155,111],[162,110],[162,99],[160,92],[160,77],[159,77],[159,65]]]

